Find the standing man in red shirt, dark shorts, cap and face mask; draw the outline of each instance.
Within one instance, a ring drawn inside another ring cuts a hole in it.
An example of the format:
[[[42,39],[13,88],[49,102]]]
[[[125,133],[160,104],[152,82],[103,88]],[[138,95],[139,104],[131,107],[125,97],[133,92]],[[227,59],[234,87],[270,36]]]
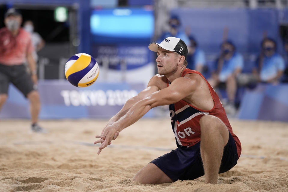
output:
[[[22,15],[14,8],[5,13],[5,26],[0,29],[0,109],[8,98],[9,83],[13,83],[30,101],[31,130],[46,132],[38,125],[40,98],[37,91],[37,71],[32,56],[31,36],[20,26]],[[30,74],[26,72],[27,60]],[[15,109],[17,110],[17,109]]]

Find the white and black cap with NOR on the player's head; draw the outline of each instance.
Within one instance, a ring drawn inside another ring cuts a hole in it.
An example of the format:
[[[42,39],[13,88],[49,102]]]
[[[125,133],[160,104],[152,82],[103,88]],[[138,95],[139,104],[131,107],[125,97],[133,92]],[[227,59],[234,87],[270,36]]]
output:
[[[168,37],[164,39],[160,44],[158,43],[151,43],[148,48],[151,51],[157,52],[158,47],[161,47],[162,49],[177,52],[180,55],[183,55],[185,57],[185,60],[187,59],[188,55],[188,49],[187,45],[179,38],[176,37]]]

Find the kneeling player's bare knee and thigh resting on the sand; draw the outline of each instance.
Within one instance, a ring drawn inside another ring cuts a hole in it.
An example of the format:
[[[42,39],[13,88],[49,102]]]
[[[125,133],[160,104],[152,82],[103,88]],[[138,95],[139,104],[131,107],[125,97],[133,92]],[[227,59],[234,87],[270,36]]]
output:
[[[133,181],[142,184],[161,184],[174,182],[155,164],[149,163],[143,167],[133,178]]]

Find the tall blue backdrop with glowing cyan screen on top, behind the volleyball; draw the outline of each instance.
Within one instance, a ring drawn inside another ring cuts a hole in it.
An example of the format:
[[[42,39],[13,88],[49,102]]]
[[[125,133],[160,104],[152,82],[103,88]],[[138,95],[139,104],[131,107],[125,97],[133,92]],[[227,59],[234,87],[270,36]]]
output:
[[[155,74],[152,7],[95,8],[90,17],[90,54],[99,64],[98,81],[144,83]]]

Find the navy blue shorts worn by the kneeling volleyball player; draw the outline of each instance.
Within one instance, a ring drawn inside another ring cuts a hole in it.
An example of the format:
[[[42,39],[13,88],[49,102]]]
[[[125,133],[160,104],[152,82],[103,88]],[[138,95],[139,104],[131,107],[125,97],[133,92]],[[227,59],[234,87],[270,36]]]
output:
[[[238,160],[234,138],[229,132],[229,140],[224,147],[219,173],[224,173],[234,167]],[[170,153],[151,161],[172,180],[193,180],[204,175],[200,154],[200,142],[185,148],[178,147]]]

